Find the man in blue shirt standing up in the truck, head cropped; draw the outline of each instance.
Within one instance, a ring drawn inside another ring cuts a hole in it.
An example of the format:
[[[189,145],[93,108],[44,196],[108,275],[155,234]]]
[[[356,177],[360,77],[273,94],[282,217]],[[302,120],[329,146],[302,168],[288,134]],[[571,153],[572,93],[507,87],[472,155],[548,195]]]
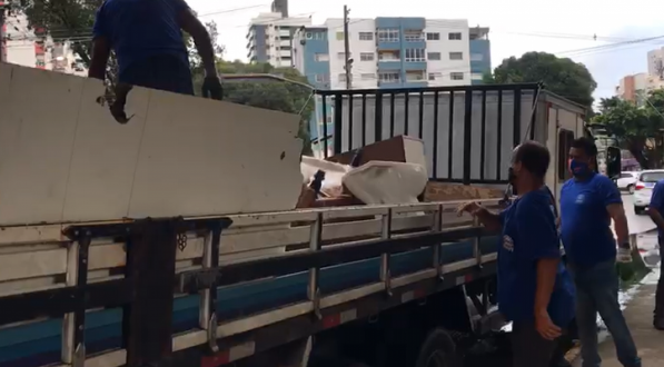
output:
[[[204,89],[220,99],[210,36],[185,0],[106,0],[92,29],[88,76],[105,80],[112,49],[118,61],[116,93],[122,106],[130,86],[194,95],[182,30],[191,36],[200,54]]]

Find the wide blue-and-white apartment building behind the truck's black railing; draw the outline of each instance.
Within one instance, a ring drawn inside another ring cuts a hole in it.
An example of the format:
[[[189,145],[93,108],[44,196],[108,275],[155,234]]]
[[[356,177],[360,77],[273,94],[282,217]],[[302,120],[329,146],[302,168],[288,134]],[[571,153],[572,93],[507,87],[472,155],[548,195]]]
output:
[[[349,54],[344,39],[343,19],[296,30],[294,66],[330,89],[346,88],[347,58],[353,89],[480,83],[490,70],[488,28],[470,29],[466,20],[350,19]]]

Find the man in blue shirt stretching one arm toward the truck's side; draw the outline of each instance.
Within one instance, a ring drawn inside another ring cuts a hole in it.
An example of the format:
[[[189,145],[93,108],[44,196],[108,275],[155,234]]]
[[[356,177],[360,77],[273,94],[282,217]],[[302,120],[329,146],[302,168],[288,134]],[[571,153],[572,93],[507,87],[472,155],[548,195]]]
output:
[[[502,229],[498,249],[498,307],[513,321],[514,367],[549,367],[556,339],[574,317],[574,291],[561,264],[551,197],[542,190],[551,156],[535,141],[513,156],[518,197],[501,214],[475,204],[470,212],[486,227]]]

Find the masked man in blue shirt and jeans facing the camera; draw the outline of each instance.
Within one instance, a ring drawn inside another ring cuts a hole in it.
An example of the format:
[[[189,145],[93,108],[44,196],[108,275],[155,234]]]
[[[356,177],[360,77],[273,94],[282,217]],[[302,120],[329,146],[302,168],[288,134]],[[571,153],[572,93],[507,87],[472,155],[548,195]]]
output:
[[[576,323],[583,367],[599,367],[597,313],[613,336],[618,360],[625,367],[641,367],[634,340],[618,304],[618,261],[631,261],[630,230],[617,187],[595,172],[597,147],[578,138],[569,149],[574,178],[561,189],[561,237],[567,268],[576,286]],[[616,240],[611,230],[615,222]]]

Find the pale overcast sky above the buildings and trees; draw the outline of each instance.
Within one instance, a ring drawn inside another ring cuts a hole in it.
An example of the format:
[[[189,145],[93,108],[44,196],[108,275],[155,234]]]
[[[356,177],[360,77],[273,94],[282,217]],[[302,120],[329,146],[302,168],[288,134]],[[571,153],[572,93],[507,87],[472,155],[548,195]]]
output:
[[[247,60],[245,37],[250,19],[268,12],[271,3],[188,2],[201,20],[217,22],[225,58],[242,61]],[[591,70],[598,85],[596,98],[613,96],[622,77],[645,72],[647,51],[664,47],[664,37],[620,44],[664,36],[664,0],[290,0],[289,12],[291,17],[311,16],[313,23],[320,24],[328,18],[341,18],[344,4],[350,9],[350,19],[467,19],[472,27],[489,27],[493,67],[527,51],[569,57]],[[597,47],[602,48],[593,49]]]

